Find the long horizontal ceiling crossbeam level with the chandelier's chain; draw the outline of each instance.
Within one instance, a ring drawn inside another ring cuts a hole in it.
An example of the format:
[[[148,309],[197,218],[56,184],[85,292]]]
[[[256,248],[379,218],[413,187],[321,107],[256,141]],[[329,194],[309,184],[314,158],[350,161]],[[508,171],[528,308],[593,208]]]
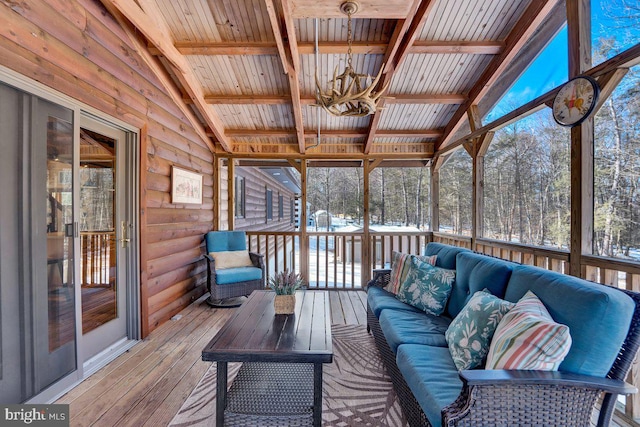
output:
[[[281,42],[282,43],[282,42]],[[384,55],[387,51],[387,42],[355,41],[351,51],[354,55]],[[273,42],[176,42],[175,48],[183,55],[278,55],[280,53],[278,43]],[[409,46],[410,54],[470,54],[470,55],[497,55],[504,49],[504,43],[499,41],[443,41],[443,40],[416,40]],[[320,41],[318,51],[321,55],[340,54],[346,55],[349,44],[346,41]],[[151,45],[149,51],[154,55],[160,55],[158,48]],[[298,43],[300,55],[314,55],[315,43]]]

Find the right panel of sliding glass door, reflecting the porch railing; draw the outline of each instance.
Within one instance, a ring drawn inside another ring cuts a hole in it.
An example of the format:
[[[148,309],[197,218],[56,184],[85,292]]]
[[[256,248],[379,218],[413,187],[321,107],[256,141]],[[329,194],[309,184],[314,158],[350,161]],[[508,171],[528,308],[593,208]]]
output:
[[[83,116],[80,121],[80,289],[83,361],[127,336],[126,280],[118,233],[127,234],[122,198],[126,134]],[[120,194],[120,196],[118,196]],[[124,224],[124,225],[123,225]]]

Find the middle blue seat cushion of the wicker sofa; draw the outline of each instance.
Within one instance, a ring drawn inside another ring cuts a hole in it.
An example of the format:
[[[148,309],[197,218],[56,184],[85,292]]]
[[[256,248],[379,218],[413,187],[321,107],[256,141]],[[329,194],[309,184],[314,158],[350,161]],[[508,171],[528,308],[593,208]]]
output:
[[[400,344],[426,344],[446,347],[444,332],[451,319],[424,312],[406,310],[382,310],[380,329],[395,353]]]

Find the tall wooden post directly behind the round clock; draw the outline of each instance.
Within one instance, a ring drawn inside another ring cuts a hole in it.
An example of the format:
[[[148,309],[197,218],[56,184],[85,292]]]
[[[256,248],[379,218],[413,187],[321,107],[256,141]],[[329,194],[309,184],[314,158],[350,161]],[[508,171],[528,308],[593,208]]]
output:
[[[567,0],[569,78],[591,68],[591,2]],[[583,254],[593,251],[593,115],[571,128],[571,250],[569,274],[585,277]]]

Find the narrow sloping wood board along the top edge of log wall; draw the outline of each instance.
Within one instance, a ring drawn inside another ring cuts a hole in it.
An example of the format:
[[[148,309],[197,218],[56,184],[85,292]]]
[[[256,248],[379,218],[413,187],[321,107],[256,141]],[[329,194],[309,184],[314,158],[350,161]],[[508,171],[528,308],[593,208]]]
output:
[[[180,111],[185,115],[186,119],[189,121],[191,126],[193,126],[196,134],[202,138],[202,140],[207,144],[209,150],[212,153],[215,153],[215,144],[211,141],[211,138],[207,134],[205,127],[200,122],[200,119],[196,117],[194,112],[189,108],[187,103],[184,102],[182,93],[178,90],[176,85],[171,80],[171,77],[167,74],[167,71],[164,69],[162,64],[159,63],[158,59],[153,57],[146,48],[145,43],[140,39],[140,35],[135,28],[135,25],[132,25],[131,21],[120,12],[120,10],[115,7],[109,0],[104,0],[104,7],[111,13],[111,15],[118,21],[120,27],[125,31],[129,40],[133,44],[133,47],[136,49],[137,53],[140,55],[142,60],[147,64],[147,66],[151,69],[153,74],[158,78],[160,84],[165,88],[167,94],[171,97],[173,102],[176,103]]]

